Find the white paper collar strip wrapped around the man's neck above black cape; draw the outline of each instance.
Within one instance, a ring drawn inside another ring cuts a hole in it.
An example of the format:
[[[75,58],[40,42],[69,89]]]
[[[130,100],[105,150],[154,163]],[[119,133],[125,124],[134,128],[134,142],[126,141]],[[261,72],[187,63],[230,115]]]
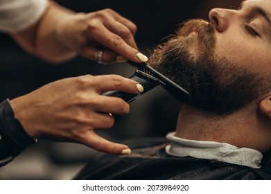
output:
[[[191,156],[200,159],[214,159],[231,164],[249,166],[252,168],[261,167],[261,152],[251,148],[238,148],[229,143],[216,141],[195,141],[182,139],[175,136],[175,132],[170,132],[166,138],[171,141],[166,146],[168,155],[175,157]]]

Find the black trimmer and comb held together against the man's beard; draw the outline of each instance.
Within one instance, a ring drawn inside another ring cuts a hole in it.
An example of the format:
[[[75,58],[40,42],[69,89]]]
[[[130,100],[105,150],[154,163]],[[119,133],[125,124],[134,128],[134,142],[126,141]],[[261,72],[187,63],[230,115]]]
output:
[[[141,94],[129,94],[123,91],[107,91],[103,94],[104,96],[116,96],[122,98],[128,103],[131,103],[138,96],[145,94],[159,85],[182,103],[190,103],[191,96],[188,91],[180,87],[180,85],[177,85],[172,80],[166,78],[166,76],[150,67],[150,65],[144,62],[136,63],[129,61],[128,63],[137,69],[130,79],[139,82],[139,84],[144,87],[144,91],[141,92]]]

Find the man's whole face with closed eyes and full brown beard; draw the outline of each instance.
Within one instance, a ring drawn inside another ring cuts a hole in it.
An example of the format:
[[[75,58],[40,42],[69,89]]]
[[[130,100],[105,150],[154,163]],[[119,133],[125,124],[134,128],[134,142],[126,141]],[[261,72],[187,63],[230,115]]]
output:
[[[191,93],[191,105],[217,114],[244,107],[270,89],[271,1],[213,9],[210,23],[186,22],[149,60]]]

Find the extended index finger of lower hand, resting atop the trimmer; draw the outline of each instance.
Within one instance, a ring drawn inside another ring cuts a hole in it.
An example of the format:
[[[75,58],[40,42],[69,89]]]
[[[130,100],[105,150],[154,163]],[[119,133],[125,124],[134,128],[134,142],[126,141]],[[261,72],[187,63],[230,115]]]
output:
[[[143,87],[138,82],[118,75],[91,77],[91,85],[95,86],[98,94],[114,90],[125,91],[131,94],[139,94],[143,91]]]

